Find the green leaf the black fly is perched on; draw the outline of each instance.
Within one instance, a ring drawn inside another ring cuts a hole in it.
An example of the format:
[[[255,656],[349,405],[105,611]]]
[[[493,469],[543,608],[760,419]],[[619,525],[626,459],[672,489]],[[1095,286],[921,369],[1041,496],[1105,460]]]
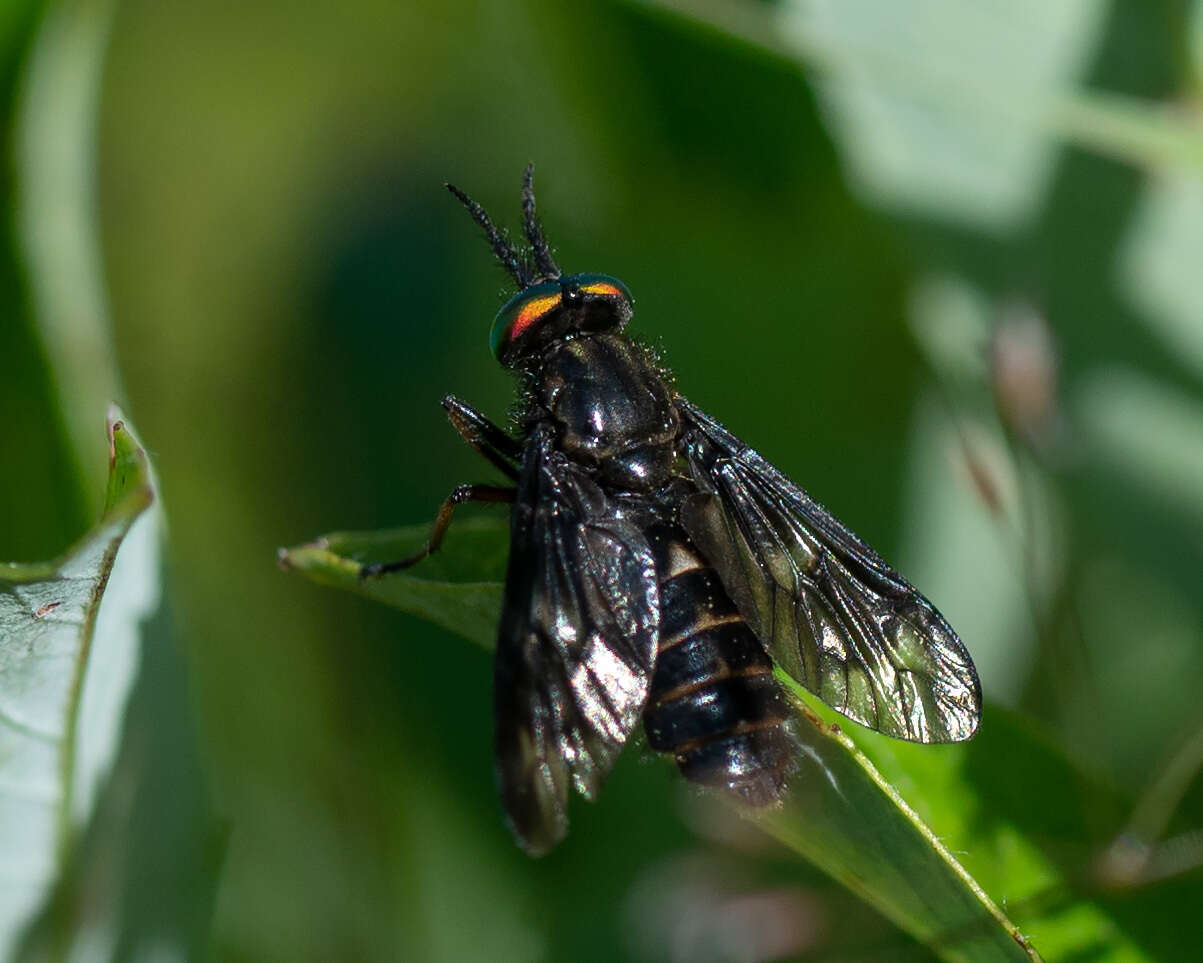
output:
[[[485,648],[492,648],[500,605],[508,527],[500,520],[452,526],[444,549],[411,571],[360,581],[365,561],[399,559],[420,549],[428,526],[377,533],[338,533],[280,551],[284,568],[324,585],[342,587],[421,615]],[[787,680],[788,681],[788,680]],[[1104,912],[1078,900],[1071,912],[1047,911],[1038,898],[1066,891],[1063,873],[1039,840],[997,811],[996,787],[979,791],[972,780],[979,758],[968,746],[911,746],[869,733],[842,720],[790,685],[807,707],[796,731],[802,745],[789,802],[759,819],[794,851],[860,894],[943,959],[1038,958],[1027,939],[950,852],[966,853],[976,873],[1012,905],[1026,908],[1020,920],[1036,945],[1047,940],[1059,958],[1075,951],[1114,947],[1108,959],[1143,959]],[[985,725],[1001,735],[978,740],[1002,756],[1011,772],[1041,772],[1041,786],[1080,782],[1060,756],[1041,755],[1037,744],[991,714]],[[854,742],[845,729],[855,729]],[[1009,748],[1001,752],[997,743]],[[869,744],[875,761],[858,748]],[[989,767],[986,767],[989,772]],[[1051,770],[1051,772],[1050,772]],[[1006,778],[1006,776],[1005,776]],[[915,803],[903,800],[900,787]],[[938,817],[929,828],[917,815]],[[938,832],[938,837],[937,837]],[[1025,898],[1033,902],[1024,904]],[[1051,952],[1051,950],[1049,950]]]

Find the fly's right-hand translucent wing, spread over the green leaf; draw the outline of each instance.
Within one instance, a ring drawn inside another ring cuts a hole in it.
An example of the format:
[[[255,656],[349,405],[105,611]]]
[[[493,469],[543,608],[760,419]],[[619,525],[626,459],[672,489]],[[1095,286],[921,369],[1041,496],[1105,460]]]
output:
[[[681,524],[777,663],[887,735],[970,738],[982,686],[935,607],[722,425],[685,398],[677,409],[698,486]]]

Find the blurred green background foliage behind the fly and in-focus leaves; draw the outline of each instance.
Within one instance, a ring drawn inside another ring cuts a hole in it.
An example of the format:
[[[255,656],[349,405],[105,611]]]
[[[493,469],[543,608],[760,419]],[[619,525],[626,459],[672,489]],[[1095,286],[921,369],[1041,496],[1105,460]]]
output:
[[[1078,897],[1189,958],[1201,6],[10,0],[0,559],[87,528],[114,398],[168,520],[124,794],[63,905],[111,879],[122,958],[929,958],[646,752],[528,859],[487,655],[274,565],[491,479],[438,402],[504,418],[509,293],[443,182],[516,224],[534,161],[561,265],[622,278],[681,391],[920,585],[1000,715],[1107,798],[1041,837]],[[984,754],[1033,810],[1060,791]],[[1142,805],[1148,872],[1104,892]],[[777,956],[753,910],[796,923]]]

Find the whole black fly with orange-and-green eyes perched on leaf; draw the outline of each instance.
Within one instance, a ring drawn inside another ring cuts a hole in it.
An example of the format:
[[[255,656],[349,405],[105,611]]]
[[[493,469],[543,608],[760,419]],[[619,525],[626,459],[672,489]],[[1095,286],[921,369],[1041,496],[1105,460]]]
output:
[[[446,397],[452,426],[510,479],[461,485],[456,506],[510,503],[497,636],[497,775],[532,853],[568,831],[569,788],[594,798],[642,720],[682,774],[746,804],[778,802],[798,758],[775,666],[848,717],[917,743],[970,738],[977,672],[935,607],[801,488],[677,394],[623,333],[630,291],[564,274],[522,189],[520,250],[475,201],[518,288],[493,355],[521,382],[517,437]]]

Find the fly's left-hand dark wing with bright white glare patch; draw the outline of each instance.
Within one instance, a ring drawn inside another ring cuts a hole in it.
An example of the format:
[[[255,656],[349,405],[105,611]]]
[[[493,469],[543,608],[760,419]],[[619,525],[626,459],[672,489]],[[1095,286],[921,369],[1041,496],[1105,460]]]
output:
[[[639,721],[659,637],[642,533],[556,451],[527,442],[511,521],[493,698],[510,827],[532,853],[568,829],[568,786],[593,798]]]

